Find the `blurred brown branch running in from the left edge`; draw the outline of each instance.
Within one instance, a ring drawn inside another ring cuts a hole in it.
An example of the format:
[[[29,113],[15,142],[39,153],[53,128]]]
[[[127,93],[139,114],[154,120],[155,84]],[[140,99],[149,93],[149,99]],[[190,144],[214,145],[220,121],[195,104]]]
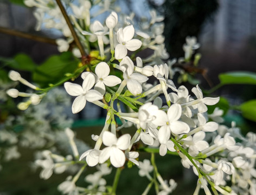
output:
[[[32,34],[28,34],[27,32],[21,32],[18,30],[12,30],[12,29],[8,29],[8,28],[0,27],[0,33],[17,36],[17,37],[22,37],[22,38],[28,38],[30,40],[56,45],[55,39],[53,39],[53,38],[32,35]]]

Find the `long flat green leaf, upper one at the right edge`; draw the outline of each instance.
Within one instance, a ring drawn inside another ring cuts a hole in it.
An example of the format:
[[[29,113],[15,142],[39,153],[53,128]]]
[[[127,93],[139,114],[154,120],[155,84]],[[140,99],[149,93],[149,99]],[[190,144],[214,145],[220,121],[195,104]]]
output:
[[[229,72],[219,75],[222,85],[227,84],[248,84],[256,85],[256,73],[252,72]]]

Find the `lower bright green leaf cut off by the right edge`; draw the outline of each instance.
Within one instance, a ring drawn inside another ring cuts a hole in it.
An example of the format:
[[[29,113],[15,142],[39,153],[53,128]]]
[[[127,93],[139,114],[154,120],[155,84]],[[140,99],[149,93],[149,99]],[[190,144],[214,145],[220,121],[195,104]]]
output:
[[[242,103],[240,109],[244,118],[256,122],[256,99]]]

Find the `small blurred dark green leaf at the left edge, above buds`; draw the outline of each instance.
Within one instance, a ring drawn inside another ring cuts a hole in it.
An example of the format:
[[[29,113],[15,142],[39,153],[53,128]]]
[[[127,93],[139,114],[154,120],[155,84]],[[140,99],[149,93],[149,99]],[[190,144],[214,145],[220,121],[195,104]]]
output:
[[[7,59],[4,57],[0,58],[0,61],[15,70],[25,70],[33,72],[36,68],[36,64],[27,54],[17,54],[13,59]]]

